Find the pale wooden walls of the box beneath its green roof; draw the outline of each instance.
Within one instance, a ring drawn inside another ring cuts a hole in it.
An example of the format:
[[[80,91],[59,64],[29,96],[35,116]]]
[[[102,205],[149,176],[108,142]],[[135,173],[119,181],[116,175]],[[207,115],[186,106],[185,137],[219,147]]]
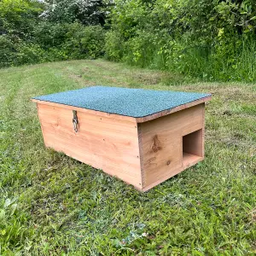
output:
[[[53,104],[38,102],[46,147],[102,169],[141,191],[204,158],[204,102],[143,123]],[[73,131],[73,110],[79,119],[77,133]]]

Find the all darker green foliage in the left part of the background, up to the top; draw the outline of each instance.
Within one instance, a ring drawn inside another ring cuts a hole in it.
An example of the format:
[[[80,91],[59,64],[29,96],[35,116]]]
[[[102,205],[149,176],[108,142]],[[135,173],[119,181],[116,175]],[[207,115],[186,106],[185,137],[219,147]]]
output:
[[[96,11],[96,6],[88,8]],[[103,55],[105,31],[102,26],[67,23],[64,17],[59,22],[52,16],[46,19],[39,15],[43,8],[42,3],[32,0],[0,2],[0,67],[73,58],[95,59]],[[90,11],[87,10],[87,15]],[[72,16],[68,12],[67,15]]]

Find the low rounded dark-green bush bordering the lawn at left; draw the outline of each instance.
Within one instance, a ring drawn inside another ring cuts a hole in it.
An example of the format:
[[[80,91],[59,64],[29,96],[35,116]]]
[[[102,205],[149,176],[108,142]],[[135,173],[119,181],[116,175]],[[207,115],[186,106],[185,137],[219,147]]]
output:
[[[0,35],[0,67],[45,61],[96,59],[104,55],[105,31],[101,26],[40,23],[30,40]]]

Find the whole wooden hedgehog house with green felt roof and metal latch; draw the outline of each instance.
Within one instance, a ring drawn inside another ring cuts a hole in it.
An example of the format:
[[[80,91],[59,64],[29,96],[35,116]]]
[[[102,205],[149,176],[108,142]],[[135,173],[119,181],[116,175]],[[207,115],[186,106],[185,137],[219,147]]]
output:
[[[46,147],[146,191],[204,159],[210,94],[92,86],[32,99]]]

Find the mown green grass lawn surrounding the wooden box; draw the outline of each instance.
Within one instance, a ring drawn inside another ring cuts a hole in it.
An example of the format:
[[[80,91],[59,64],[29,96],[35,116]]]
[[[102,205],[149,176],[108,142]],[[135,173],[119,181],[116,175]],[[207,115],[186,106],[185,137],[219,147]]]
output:
[[[206,160],[139,193],[44,148],[32,96],[106,84],[212,92]],[[0,255],[255,255],[256,86],[108,61],[0,70]]]

